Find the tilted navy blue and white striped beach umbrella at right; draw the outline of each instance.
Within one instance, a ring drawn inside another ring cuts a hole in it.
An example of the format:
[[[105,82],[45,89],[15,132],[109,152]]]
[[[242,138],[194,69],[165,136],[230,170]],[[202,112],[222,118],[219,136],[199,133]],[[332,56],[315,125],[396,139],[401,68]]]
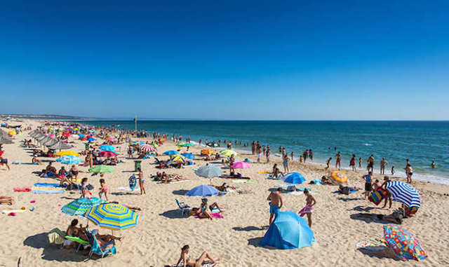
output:
[[[394,201],[403,203],[407,207],[421,206],[420,193],[410,184],[394,181],[388,182],[386,188]]]

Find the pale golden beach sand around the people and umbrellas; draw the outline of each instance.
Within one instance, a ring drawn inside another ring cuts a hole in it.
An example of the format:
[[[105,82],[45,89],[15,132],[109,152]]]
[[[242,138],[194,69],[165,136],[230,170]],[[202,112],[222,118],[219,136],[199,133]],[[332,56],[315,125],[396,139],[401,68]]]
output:
[[[39,121],[26,121],[36,126]],[[34,127],[35,128],[35,127]],[[390,214],[399,203],[393,203],[391,210],[375,207],[364,200],[363,191],[349,196],[333,193],[337,186],[302,184],[298,187],[311,189],[316,199],[313,213],[312,230],[316,243],[302,249],[281,250],[270,247],[260,247],[258,244],[267,231],[269,206],[267,196],[269,189],[274,189],[281,181],[266,179],[266,174],[259,171],[271,170],[273,163],[251,164],[250,169],[238,170],[243,176],[251,177],[257,183],[240,184],[230,180],[201,178],[194,174],[194,168],[205,165],[203,160],[195,160],[194,167],[168,169],[169,174],[182,174],[190,179],[177,184],[157,184],[149,179],[156,173],[154,159],[142,161],[145,174],[147,194],[118,191],[120,186],[128,186],[128,177],[133,174],[134,162],[126,159],[126,144],[122,144],[119,158],[126,163],[114,166],[115,172],[105,174],[109,189],[109,200],[117,200],[126,205],[142,208],[139,213],[138,226],[124,231],[115,231],[115,235],[125,238],[117,245],[118,254],[105,259],[92,259],[85,262],[87,256],[83,252],[60,249],[49,245],[47,233],[58,227],[65,231],[74,217],[63,214],[60,209],[70,201],[79,198],[78,193],[70,194],[34,194],[13,192],[15,187],[32,187],[36,182],[56,182],[48,178],[39,178],[33,171],[41,170],[43,165],[13,165],[13,160],[29,163],[31,157],[27,150],[20,147],[23,137],[29,138],[27,131],[22,136],[15,137],[15,144],[4,145],[4,156],[8,158],[11,171],[6,166],[0,167],[0,196],[13,196],[13,206],[1,205],[4,209],[27,209],[35,207],[33,212],[18,213],[15,217],[0,214],[0,266],[17,266],[19,257],[22,266],[163,266],[174,264],[180,256],[183,245],[190,246],[189,255],[196,258],[201,252],[208,251],[213,256],[223,256],[224,261],[219,266],[449,266],[449,226],[448,203],[449,187],[441,184],[414,182],[413,186],[420,191],[422,205],[417,215],[405,219],[402,226],[414,233],[422,242],[429,256],[424,261],[400,261],[389,254],[361,252],[356,249],[357,242],[368,238],[382,238],[383,223],[370,219],[351,219],[351,214],[372,212]],[[76,141],[72,150],[82,151],[83,142]],[[177,149],[173,142],[166,142],[159,151]],[[198,154],[200,147],[190,149]],[[166,159],[168,156],[159,156]],[[250,158],[250,155],[239,155],[237,160]],[[44,159],[44,158],[41,158]],[[48,158],[47,158],[48,159]],[[264,161],[264,159],[263,159]],[[272,160],[274,161],[274,160]],[[279,161],[279,160],[278,160]],[[53,163],[59,170],[61,164]],[[282,165],[280,164],[280,167]],[[100,176],[91,176],[87,167],[79,167],[83,171],[79,177],[88,177],[89,183],[95,186],[93,195],[98,196]],[[229,170],[224,170],[229,172]],[[327,172],[320,165],[291,163],[290,171],[304,175],[307,183],[311,179],[320,179]],[[361,172],[344,171],[351,186],[363,188]],[[379,176],[375,178],[382,180]],[[190,206],[198,207],[201,198],[184,196],[184,193],[201,184],[220,185],[227,182],[239,186],[239,191],[226,196],[214,196],[209,201],[217,202],[225,208],[224,219],[195,219],[182,217],[175,204],[175,198]],[[30,203],[35,200],[36,203]],[[284,206],[282,211],[299,211],[305,203],[304,195],[283,193]],[[86,224],[86,219],[79,218]],[[89,224],[91,228],[98,228]],[[100,233],[110,233],[101,229]]]

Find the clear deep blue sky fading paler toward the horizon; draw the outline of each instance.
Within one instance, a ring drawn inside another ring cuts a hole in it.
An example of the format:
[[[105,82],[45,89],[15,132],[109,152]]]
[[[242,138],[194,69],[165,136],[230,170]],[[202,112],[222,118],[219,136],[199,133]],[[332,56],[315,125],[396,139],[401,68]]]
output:
[[[81,2],[2,1],[0,113],[449,119],[449,1]]]

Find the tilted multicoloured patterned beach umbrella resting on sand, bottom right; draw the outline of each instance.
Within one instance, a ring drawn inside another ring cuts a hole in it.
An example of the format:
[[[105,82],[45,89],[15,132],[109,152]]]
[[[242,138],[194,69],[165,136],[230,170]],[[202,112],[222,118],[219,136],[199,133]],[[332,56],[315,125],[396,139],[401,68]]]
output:
[[[384,226],[384,239],[387,241],[387,245],[403,261],[407,259],[420,261],[427,258],[420,240],[417,240],[413,234],[404,230],[401,226],[394,224]]]

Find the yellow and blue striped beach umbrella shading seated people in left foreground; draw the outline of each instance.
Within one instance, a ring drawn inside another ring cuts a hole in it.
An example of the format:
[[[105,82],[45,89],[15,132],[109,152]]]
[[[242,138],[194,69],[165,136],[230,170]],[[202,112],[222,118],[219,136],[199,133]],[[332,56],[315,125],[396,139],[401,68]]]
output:
[[[101,228],[123,230],[137,226],[139,215],[121,204],[104,203],[91,207],[86,218]]]

